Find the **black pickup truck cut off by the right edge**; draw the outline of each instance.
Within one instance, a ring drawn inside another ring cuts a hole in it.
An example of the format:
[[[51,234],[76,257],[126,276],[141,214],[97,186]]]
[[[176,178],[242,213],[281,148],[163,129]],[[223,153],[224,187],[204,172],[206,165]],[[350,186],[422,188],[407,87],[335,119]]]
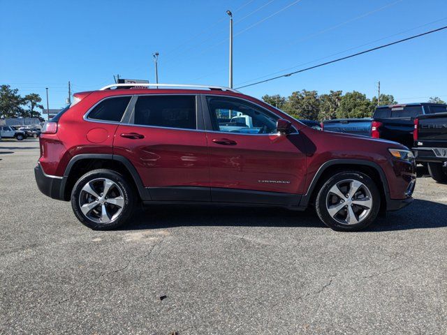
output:
[[[430,176],[447,182],[447,112],[420,115],[414,120],[416,161],[427,163]]]

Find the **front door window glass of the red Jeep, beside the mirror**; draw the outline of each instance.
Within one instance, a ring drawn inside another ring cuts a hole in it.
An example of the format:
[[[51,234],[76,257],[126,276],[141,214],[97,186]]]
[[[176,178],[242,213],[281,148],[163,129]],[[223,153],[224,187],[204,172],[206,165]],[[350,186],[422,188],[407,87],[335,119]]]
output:
[[[207,97],[214,130],[241,134],[277,133],[276,115],[261,107],[231,98]]]

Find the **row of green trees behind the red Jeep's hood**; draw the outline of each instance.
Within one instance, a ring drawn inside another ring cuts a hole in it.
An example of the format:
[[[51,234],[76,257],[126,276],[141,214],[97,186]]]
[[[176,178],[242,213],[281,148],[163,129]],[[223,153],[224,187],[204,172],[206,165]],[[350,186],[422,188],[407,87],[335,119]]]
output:
[[[366,94],[358,91],[346,92],[330,91],[328,94],[318,94],[317,91],[294,91],[291,96],[275,94],[262,97],[265,103],[284,110],[287,114],[297,119],[330,120],[347,119],[356,117],[372,117],[374,109],[379,105],[376,96],[367,98]],[[432,97],[429,103],[444,103],[438,97]],[[390,94],[380,95],[380,105],[396,104],[394,96]]]

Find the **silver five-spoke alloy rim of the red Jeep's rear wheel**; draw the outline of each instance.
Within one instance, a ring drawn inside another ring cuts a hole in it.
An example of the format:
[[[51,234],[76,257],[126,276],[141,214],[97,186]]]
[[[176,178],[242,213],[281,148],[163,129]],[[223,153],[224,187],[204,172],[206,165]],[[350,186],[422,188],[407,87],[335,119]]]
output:
[[[88,181],[79,195],[82,214],[96,223],[110,223],[124,209],[122,188],[107,178]]]

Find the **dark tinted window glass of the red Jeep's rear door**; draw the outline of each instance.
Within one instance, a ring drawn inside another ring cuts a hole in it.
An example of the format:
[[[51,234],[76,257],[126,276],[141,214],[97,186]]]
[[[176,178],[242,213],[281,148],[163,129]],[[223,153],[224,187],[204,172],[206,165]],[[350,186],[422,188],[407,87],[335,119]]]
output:
[[[196,129],[195,96],[139,96],[134,124]]]

